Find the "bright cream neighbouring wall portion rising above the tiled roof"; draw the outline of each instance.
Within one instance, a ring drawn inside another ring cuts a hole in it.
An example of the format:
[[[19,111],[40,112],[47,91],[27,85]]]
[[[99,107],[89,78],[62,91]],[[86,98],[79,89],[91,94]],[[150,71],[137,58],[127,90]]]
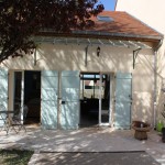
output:
[[[164,0],[118,0],[117,11],[127,11],[165,34]]]

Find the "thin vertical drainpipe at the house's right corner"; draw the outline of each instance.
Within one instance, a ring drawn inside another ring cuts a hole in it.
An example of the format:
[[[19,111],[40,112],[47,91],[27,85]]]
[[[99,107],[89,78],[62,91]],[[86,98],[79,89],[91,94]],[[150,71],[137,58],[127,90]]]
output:
[[[157,51],[162,46],[163,40],[160,41],[157,46],[154,48],[154,119],[153,119],[153,128],[156,128],[156,107],[157,107]]]

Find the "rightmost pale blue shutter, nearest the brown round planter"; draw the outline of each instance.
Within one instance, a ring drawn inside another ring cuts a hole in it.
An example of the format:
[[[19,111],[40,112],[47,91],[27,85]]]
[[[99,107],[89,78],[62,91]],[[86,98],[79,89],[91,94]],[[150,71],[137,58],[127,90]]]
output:
[[[117,74],[114,127],[130,129],[131,127],[132,75]]]

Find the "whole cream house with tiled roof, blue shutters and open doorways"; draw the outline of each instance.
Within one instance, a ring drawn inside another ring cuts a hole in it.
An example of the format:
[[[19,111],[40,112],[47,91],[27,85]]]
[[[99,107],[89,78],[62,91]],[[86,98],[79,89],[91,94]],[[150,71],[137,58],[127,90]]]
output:
[[[154,124],[155,55],[163,35],[125,12],[92,19],[92,29],[70,34],[43,30],[33,55],[1,63],[0,103],[8,110],[20,105],[22,112],[26,105],[28,119],[44,129]]]

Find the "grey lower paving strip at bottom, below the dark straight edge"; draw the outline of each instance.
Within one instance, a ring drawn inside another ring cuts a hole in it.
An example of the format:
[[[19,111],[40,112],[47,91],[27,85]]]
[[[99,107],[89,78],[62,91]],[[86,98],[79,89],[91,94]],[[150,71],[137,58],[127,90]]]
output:
[[[144,151],[40,152],[35,162],[48,165],[161,165]]]

